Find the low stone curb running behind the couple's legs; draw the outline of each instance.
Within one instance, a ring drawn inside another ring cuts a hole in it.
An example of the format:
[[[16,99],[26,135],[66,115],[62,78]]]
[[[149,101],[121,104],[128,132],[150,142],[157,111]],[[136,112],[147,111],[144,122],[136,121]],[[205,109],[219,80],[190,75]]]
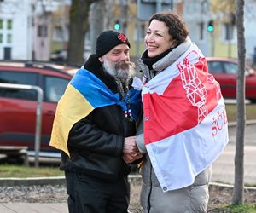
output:
[[[131,183],[138,183],[141,182],[142,176],[141,175],[129,175],[128,179]],[[53,177],[27,177],[27,178],[16,178],[16,177],[9,177],[9,178],[0,178],[0,187],[9,187],[9,186],[43,186],[43,185],[65,185],[65,176],[53,176]],[[210,182],[209,187],[218,187],[222,189],[224,187],[232,188],[232,184],[224,184],[218,182]],[[256,192],[256,187],[244,187],[244,189]]]

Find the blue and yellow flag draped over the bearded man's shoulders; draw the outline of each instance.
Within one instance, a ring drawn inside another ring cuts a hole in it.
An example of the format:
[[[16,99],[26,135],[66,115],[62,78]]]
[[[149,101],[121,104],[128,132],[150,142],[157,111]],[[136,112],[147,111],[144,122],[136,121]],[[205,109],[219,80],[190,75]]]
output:
[[[128,97],[129,96],[129,97]],[[133,119],[136,120],[141,104],[141,92],[131,88],[125,95],[129,99]],[[119,94],[113,94],[93,73],[81,68],[58,102],[49,145],[61,149],[69,156],[67,138],[73,124],[98,107],[119,105],[127,110]]]

